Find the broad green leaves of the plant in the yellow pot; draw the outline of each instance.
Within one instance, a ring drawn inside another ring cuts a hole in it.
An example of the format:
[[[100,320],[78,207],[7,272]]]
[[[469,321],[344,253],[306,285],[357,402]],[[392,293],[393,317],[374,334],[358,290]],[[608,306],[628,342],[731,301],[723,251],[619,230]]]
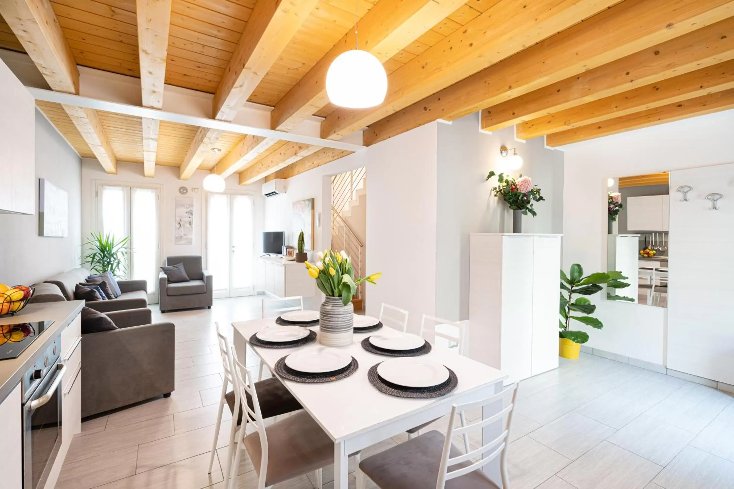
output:
[[[603,290],[603,285],[613,289],[629,287],[630,284],[622,282],[622,280],[625,279],[627,279],[627,277],[623,276],[622,273],[618,271],[597,272],[584,276],[584,268],[582,268],[578,263],[571,265],[568,275],[566,275],[562,270],[559,336],[561,338],[570,339],[574,343],[586,343],[589,341],[588,333],[585,331],[574,331],[571,329],[571,326],[573,325],[571,320],[578,321],[586,326],[591,326],[592,328],[597,329],[603,328],[604,325],[596,317],[589,316],[594,314],[596,311],[596,306],[592,304],[592,301],[590,301],[589,298],[574,296],[594,295],[595,293]],[[614,297],[617,297],[616,299],[613,299],[615,301],[632,300],[630,298],[620,298],[620,296]]]

